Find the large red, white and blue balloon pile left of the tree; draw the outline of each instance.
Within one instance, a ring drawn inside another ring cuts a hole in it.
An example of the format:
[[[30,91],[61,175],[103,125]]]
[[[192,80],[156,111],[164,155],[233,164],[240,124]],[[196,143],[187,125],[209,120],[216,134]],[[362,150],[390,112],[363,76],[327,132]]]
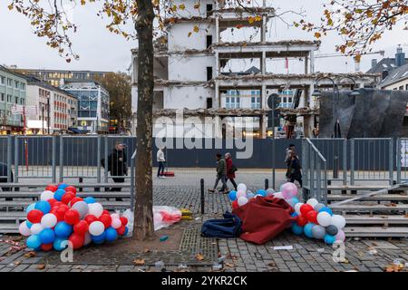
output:
[[[20,224],[20,234],[28,237],[26,246],[34,250],[62,251],[112,242],[128,233],[128,219],[111,214],[94,198],[79,198],[67,184],[49,185],[40,200],[26,208],[27,220]]]

